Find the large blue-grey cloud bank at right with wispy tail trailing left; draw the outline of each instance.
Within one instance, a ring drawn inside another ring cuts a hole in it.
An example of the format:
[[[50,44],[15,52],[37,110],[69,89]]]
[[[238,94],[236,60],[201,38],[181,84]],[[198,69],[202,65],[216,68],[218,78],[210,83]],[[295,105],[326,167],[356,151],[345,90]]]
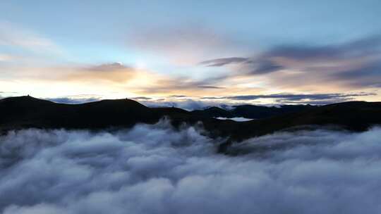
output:
[[[267,78],[270,86],[289,89],[380,87],[381,35],[342,44],[274,46],[252,57],[215,58],[200,65],[228,66],[227,81],[236,77]]]

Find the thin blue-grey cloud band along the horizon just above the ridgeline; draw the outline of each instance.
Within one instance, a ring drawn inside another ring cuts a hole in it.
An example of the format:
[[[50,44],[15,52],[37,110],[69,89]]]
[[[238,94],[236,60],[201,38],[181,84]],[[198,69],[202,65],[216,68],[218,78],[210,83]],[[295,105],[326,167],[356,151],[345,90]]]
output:
[[[0,93],[1,94],[1,93]],[[253,95],[236,95],[236,96],[134,96],[129,97],[143,103],[149,107],[176,107],[183,108],[187,111],[200,110],[210,106],[220,108],[232,108],[231,106],[254,104],[263,106],[274,106],[279,104],[311,104],[326,105],[329,103],[339,103],[344,101],[353,101],[356,98],[363,99],[366,96],[375,96],[375,93],[351,93],[351,94],[253,94]],[[57,103],[86,103],[90,101],[99,101],[101,96],[95,94],[84,94],[82,96],[68,96],[59,98],[47,98]],[[267,103],[263,100],[267,99]]]

